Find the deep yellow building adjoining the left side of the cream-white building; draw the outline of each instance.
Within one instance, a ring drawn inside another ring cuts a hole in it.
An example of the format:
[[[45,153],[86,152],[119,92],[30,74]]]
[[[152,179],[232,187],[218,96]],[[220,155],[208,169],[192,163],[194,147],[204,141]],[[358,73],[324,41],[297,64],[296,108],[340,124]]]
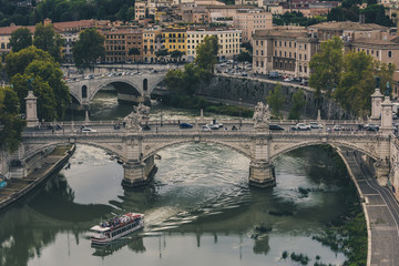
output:
[[[166,49],[167,52],[178,50],[184,54],[187,54],[186,31],[186,28],[178,27],[167,27],[166,29],[164,29],[162,31],[162,49]]]

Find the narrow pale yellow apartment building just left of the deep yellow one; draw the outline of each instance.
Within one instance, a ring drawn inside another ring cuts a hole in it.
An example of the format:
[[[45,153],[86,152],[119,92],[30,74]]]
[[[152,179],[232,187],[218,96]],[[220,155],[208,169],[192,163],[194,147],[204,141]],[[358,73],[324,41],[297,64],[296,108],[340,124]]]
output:
[[[162,49],[162,32],[161,29],[145,29],[143,30],[143,61],[156,62],[155,52]]]

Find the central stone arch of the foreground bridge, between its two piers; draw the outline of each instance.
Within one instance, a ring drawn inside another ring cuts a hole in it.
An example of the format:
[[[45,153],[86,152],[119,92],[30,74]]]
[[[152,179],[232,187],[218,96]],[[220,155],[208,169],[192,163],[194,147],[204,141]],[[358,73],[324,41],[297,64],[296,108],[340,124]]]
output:
[[[186,140],[173,140],[173,141],[167,142],[167,143],[162,143],[162,144],[154,145],[154,146],[143,144],[143,151],[144,151],[143,161],[145,161],[146,158],[155,155],[160,151],[165,150],[165,149],[167,149],[170,146],[182,145],[182,144],[185,144],[185,143],[211,143],[211,144],[217,144],[217,145],[221,145],[221,146],[225,146],[225,147],[227,147],[229,150],[233,150],[233,151],[248,157],[249,160],[252,158],[252,153],[250,153],[249,145],[244,144],[244,143],[233,145],[232,143],[217,141],[217,140],[200,140],[200,141],[196,141],[196,140],[187,140],[186,139]]]

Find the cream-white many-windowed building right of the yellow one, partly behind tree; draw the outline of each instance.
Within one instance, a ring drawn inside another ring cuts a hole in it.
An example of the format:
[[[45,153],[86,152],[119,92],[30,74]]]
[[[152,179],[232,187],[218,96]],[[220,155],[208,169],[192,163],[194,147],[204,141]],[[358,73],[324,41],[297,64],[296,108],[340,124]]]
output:
[[[207,35],[217,35],[219,59],[233,59],[239,53],[242,31],[237,29],[196,29],[187,30],[187,60],[194,61],[196,47],[203,42]]]

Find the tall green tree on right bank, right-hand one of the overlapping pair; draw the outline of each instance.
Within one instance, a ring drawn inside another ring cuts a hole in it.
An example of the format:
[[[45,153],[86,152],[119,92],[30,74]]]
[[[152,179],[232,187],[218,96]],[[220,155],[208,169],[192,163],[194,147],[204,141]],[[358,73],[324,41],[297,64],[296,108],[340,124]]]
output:
[[[342,79],[335,91],[335,99],[346,110],[357,116],[366,117],[371,108],[375,90],[374,61],[365,52],[350,52],[345,55]]]

